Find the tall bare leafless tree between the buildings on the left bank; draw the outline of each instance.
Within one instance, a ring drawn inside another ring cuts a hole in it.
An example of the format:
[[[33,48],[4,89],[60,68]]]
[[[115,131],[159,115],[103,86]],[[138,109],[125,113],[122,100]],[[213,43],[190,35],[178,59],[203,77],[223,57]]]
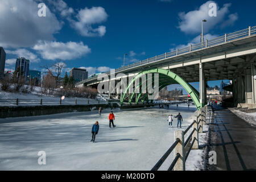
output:
[[[45,65],[42,68],[46,69],[46,72],[44,73],[55,78],[55,82],[57,86],[57,85],[60,85],[60,75],[64,67],[65,67],[65,63],[62,63],[59,61],[59,62],[53,63],[50,67],[48,65]]]

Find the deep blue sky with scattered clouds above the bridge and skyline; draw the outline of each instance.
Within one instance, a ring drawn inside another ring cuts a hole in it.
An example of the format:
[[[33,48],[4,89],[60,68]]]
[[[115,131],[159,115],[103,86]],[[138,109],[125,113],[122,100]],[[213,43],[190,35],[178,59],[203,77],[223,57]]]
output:
[[[39,3],[46,16],[38,15]],[[209,3],[217,16],[209,16]],[[32,70],[61,61],[64,72],[77,67],[92,75],[122,67],[125,53],[131,64],[199,43],[202,19],[206,39],[255,26],[255,10],[251,0],[0,0],[0,46],[6,71],[20,56]]]

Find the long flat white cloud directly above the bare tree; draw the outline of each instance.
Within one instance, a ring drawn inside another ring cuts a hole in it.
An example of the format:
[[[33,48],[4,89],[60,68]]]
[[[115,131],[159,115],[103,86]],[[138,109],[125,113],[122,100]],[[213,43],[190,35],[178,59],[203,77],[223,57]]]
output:
[[[43,59],[47,60],[72,60],[90,53],[90,48],[82,42],[41,41],[33,49],[38,51]]]

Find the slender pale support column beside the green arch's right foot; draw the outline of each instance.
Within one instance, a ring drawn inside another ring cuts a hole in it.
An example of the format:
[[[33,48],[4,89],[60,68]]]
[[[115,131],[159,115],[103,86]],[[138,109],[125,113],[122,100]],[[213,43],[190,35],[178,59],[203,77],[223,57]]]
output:
[[[200,81],[200,104],[204,107],[207,104],[207,94],[205,87],[204,65],[199,63],[199,81]]]

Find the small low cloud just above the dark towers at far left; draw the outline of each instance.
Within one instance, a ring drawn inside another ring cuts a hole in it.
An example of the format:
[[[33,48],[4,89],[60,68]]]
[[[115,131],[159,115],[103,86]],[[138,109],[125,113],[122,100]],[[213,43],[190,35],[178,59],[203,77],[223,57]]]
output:
[[[24,57],[28,60],[30,60],[30,63],[38,63],[40,59],[38,58],[37,55],[34,53],[28,51],[27,49],[16,49],[15,51],[9,51],[6,50],[6,53],[9,53],[11,55],[16,55],[17,57]],[[11,59],[13,60],[13,59]],[[11,63],[11,61],[9,61]]]

